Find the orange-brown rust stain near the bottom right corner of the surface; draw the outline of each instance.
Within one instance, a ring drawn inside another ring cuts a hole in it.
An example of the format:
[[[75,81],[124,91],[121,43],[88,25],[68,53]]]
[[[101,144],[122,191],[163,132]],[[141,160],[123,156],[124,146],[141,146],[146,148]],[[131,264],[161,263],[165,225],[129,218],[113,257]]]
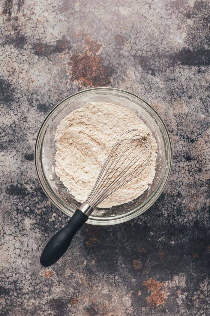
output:
[[[146,297],[146,301],[150,306],[159,306],[164,305],[165,295],[161,291],[163,287],[165,287],[165,283],[160,283],[155,281],[153,278],[149,280],[145,280],[143,282],[143,286],[147,289],[147,291],[151,291],[150,296]]]

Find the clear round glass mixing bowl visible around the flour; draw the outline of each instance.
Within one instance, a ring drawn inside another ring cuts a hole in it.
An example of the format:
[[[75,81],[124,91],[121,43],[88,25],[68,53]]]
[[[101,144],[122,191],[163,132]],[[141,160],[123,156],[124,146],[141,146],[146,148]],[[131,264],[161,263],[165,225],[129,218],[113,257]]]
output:
[[[150,187],[129,203],[110,209],[94,209],[87,221],[94,225],[126,222],[145,212],[160,196],[172,164],[172,145],[167,127],[156,110],[139,96],[114,88],[93,88],[72,94],[57,104],[48,113],[37,134],[34,148],[37,177],[47,197],[58,209],[71,217],[81,203],[74,199],[56,176],[54,136],[60,121],[88,101],[110,102],[130,109],[150,128],[157,142],[156,175]]]

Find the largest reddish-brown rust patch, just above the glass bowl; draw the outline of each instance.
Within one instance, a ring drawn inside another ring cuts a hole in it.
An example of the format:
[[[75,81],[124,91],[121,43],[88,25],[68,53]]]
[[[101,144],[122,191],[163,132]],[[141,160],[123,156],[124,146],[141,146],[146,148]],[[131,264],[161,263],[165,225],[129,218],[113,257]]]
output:
[[[71,55],[70,81],[80,82],[83,87],[102,87],[110,84],[110,69],[100,63],[97,56]]]

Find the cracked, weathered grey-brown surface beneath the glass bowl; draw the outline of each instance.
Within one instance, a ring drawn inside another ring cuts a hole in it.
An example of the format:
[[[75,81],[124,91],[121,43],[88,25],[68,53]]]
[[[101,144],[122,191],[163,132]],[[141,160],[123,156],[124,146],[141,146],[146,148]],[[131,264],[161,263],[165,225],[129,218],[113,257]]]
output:
[[[209,313],[209,10],[208,0],[1,1],[2,316]],[[101,82],[161,114],[171,176],[150,210],[86,224],[43,268],[67,216],[37,181],[36,133],[56,103]]]

